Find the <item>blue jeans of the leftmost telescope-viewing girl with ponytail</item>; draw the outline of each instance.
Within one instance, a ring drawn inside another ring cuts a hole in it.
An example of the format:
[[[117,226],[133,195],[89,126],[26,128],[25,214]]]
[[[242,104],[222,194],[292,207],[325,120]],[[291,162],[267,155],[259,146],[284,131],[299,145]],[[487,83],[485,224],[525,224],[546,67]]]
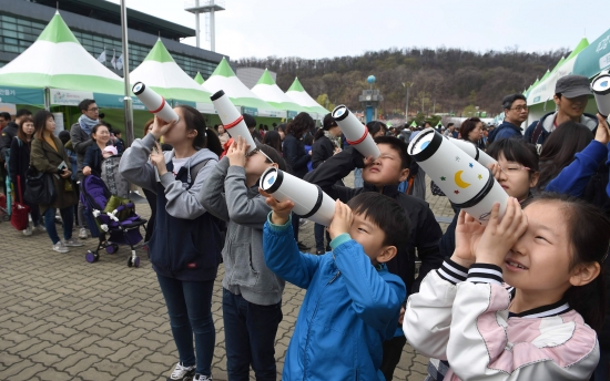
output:
[[[212,375],[216,331],[212,320],[214,280],[183,281],[156,275],[165,298],[170,326],[180,361],[185,367],[196,363],[195,372]],[[193,349],[193,333],[195,348]],[[195,359],[196,350],[196,359]]]

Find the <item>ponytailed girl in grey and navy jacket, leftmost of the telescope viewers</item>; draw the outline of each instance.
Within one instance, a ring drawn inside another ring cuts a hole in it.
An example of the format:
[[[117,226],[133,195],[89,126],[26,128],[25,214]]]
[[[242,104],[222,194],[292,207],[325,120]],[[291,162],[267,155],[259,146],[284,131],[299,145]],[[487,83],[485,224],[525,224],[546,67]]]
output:
[[[180,120],[155,117],[151,132],[124,152],[119,171],[156,193],[149,255],[180,357],[169,380],[212,380],[212,291],[223,241],[221,222],[200,204],[197,194],[223,150],[197,110],[181,105],[174,111]],[[162,152],[161,136],[172,151]]]

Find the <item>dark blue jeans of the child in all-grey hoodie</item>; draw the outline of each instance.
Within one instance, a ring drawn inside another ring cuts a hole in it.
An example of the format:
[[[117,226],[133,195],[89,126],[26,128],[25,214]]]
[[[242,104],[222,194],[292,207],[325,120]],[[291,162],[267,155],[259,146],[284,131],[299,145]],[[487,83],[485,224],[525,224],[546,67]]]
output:
[[[256,381],[277,379],[275,334],[282,321],[282,302],[251,303],[223,288],[223,321],[228,381],[250,380],[250,364]]]

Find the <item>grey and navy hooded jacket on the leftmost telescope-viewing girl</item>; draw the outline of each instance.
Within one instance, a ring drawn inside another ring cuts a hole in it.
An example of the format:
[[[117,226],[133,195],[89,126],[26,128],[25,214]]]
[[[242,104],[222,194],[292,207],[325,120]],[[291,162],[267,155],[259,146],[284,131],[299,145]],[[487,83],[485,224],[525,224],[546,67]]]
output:
[[[211,280],[221,261],[222,236],[218,220],[206,213],[197,194],[218,156],[199,150],[177,172],[172,173],[173,151],[164,152],[167,173],[159,176],[149,161],[155,140],[152,134],[136,138],[121,158],[119,171],[129,182],[156,193],[156,220],[149,244],[154,270],[180,280]],[[192,168],[207,161],[197,174]]]

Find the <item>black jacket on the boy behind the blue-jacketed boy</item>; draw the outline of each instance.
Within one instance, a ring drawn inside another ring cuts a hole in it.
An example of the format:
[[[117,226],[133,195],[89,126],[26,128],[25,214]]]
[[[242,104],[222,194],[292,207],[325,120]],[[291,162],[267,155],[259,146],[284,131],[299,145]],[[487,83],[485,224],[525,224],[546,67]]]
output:
[[[347,176],[354,168],[364,166],[363,156],[354,147],[347,147],[338,154],[329,157],[317,169],[309,172],[305,181],[318,185],[333,199],[349,202],[363,192],[379,192],[374,185],[365,184],[363,188],[349,188],[337,185],[337,181]],[[398,184],[384,186],[383,194],[394,198],[409,216],[411,230],[406,250],[398,253],[387,262],[389,272],[396,274],[407,286],[408,294],[419,290],[419,282],[430,270],[439,268],[443,256],[438,247],[438,240],[443,236],[440,226],[426,203],[414,196],[398,192]],[[419,276],[415,279],[415,249],[421,259]]]

